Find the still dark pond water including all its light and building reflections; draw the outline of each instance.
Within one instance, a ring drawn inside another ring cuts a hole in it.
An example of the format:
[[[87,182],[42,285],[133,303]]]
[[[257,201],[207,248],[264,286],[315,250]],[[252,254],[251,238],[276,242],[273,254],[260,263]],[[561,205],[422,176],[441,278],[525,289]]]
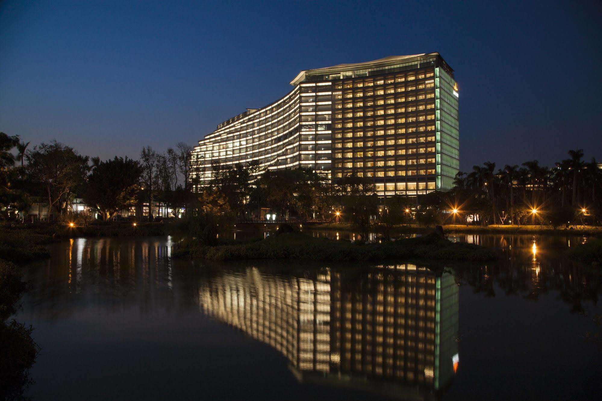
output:
[[[332,232],[314,232],[332,236]],[[349,233],[340,235],[349,235]],[[600,275],[582,237],[455,235],[488,264],[172,260],[79,238],[29,266],[34,400],[595,399]]]

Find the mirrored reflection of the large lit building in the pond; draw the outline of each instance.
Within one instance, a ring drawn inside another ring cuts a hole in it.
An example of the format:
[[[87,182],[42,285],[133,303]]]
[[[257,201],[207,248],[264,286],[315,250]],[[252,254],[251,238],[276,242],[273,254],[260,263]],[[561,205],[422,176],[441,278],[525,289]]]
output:
[[[299,381],[430,398],[458,368],[458,285],[414,264],[311,278],[220,272],[200,308],[277,349]]]

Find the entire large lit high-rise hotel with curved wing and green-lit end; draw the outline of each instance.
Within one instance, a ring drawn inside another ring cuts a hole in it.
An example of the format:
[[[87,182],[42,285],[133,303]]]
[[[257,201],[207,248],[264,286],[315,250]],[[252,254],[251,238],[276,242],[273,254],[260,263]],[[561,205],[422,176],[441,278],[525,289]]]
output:
[[[459,169],[458,84],[438,53],[303,70],[293,90],[217,126],[194,148],[201,184],[212,166],[356,173],[379,195],[452,188]]]

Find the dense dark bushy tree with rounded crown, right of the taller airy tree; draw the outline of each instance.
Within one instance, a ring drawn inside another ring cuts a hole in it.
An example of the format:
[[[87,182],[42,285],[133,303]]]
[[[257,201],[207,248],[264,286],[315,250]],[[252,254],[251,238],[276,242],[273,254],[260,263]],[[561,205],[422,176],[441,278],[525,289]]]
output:
[[[84,201],[96,207],[103,220],[111,220],[119,211],[136,204],[141,175],[140,163],[128,157],[95,159],[85,186]]]

